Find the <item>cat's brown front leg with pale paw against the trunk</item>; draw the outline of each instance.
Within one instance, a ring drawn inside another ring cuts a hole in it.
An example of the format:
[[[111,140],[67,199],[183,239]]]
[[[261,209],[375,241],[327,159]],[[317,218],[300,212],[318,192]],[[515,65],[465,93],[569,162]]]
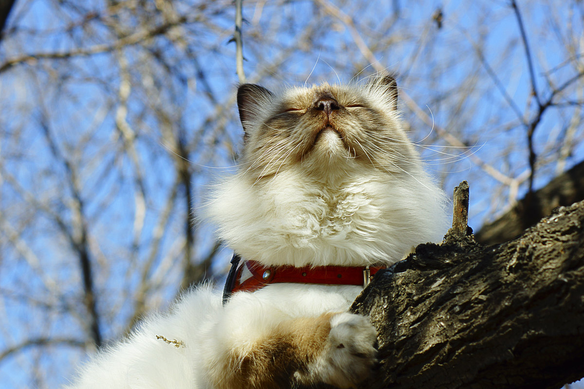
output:
[[[211,369],[213,387],[277,389],[294,381],[354,387],[376,362],[376,337],[366,317],[350,313],[286,320],[263,339],[231,349]]]

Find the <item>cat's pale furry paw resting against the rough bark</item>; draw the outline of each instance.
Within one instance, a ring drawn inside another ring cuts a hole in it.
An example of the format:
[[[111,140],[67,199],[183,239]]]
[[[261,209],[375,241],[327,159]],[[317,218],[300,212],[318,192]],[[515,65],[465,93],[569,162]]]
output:
[[[331,331],[314,365],[325,384],[352,388],[367,379],[377,362],[377,332],[369,318],[350,313],[331,317]]]

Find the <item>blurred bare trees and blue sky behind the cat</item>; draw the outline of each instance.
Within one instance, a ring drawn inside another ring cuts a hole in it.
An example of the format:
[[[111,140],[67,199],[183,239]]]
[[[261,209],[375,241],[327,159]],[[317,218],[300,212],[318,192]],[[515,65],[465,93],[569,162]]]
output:
[[[12,6],[0,36],[0,376],[57,387],[180,290],[224,277],[230,251],[193,221],[205,185],[237,163],[235,7],[12,3],[0,3]],[[248,82],[397,72],[429,169],[449,193],[470,182],[475,230],[518,204],[544,212],[536,190],[584,160],[579,0],[246,0],[243,16]]]

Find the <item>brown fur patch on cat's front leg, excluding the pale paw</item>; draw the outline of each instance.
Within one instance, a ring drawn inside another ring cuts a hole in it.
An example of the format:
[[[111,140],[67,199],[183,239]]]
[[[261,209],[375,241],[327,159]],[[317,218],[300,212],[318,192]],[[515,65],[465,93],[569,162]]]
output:
[[[215,388],[279,389],[290,387],[294,373],[313,362],[324,348],[334,313],[284,321],[246,353],[232,350]]]

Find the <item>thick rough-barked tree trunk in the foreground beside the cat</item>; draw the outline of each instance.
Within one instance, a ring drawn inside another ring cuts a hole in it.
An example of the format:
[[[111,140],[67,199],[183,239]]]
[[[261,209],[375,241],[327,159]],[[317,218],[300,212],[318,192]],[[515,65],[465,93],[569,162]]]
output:
[[[352,306],[380,334],[362,387],[558,389],[584,377],[583,223],[580,202],[498,246],[451,230],[378,272]]]

